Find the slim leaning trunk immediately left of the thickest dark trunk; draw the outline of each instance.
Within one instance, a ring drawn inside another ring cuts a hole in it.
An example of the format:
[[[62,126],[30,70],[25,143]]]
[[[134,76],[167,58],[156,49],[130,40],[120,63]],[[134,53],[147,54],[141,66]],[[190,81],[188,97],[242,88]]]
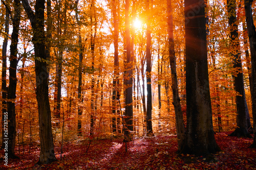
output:
[[[183,113],[181,110],[178,80],[177,80],[172,0],[167,0],[167,19],[168,19],[167,20],[167,23],[168,23],[168,48],[169,48],[168,51],[169,51],[170,71],[172,73],[173,105],[174,105],[175,118],[176,118],[178,148],[179,148],[179,150],[181,150],[182,145],[184,143],[184,139],[185,139],[185,127],[184,127],[184,123],[183,123]]]

